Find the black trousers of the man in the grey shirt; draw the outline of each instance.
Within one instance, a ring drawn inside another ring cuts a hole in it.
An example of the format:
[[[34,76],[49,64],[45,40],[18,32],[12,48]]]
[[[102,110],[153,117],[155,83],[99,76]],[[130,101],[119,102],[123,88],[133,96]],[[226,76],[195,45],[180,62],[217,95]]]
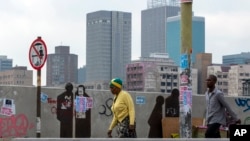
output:
[[[205,138],[221,138],[220,126],[221,124],[219,123],[208,124],[205,133]]]

